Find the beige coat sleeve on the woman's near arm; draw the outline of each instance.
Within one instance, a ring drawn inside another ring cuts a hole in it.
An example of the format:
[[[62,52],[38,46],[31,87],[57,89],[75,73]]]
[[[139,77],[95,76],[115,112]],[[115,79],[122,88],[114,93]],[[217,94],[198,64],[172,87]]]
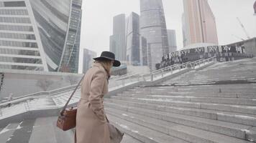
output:
[[[103,122],[106,122],[106,116],[104,113],[104,106],[101,99],[101,94],[104,88],[105,80],[105,71],[96,71],[96,74],[94,74],[91,81],[90,96],[88,98],[89,102],[91,103],[91,109],[96,114],[96,116],[99,117],[99,119]]]

